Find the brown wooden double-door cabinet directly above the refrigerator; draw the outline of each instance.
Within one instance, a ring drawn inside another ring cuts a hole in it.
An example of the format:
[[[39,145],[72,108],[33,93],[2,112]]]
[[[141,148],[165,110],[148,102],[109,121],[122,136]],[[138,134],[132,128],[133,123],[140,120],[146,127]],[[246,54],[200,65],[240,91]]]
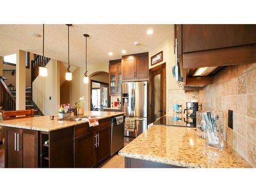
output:
[[[148,80],[148,52],[122,56],[122,81]]]

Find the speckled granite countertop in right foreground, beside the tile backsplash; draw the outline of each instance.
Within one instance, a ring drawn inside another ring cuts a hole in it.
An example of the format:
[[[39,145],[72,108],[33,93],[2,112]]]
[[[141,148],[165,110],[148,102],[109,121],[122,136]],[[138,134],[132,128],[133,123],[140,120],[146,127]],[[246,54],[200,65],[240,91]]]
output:
[[[182,167],[252,167],[224,141],[222,151],[205,146],[194,128],[153,125],[119,155]]]

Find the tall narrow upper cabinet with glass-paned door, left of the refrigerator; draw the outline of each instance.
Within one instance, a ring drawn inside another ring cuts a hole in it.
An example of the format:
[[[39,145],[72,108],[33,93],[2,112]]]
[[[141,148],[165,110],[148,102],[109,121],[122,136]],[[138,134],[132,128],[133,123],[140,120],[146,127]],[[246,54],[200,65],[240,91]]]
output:
[[[109,64],[109,94],[111,96],[118,96],[121,94],[121,59],[110,60]]]

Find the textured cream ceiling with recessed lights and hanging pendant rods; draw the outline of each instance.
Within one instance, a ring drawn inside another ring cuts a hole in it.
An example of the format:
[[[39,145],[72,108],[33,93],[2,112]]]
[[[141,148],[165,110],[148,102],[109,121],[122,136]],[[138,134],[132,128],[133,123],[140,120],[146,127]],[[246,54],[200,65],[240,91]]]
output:
[[[147,29],[153,29],[147,35]],[[154,49],[172,34],[173,25],[73,25],[70,27],[70,64],[83,66],[87,39],[88,65],[108,64],[109,60],[121,58],[121,50],[126,54],[147,52]],[[25,50],[42,55],[42,25],[0,25],[0,56]],[[139,46],[133,44],[140,43]],[[113,56],[108,53],[113,52]],[[68,61],[68,27],[66,25],[45,25],[45,56]]]

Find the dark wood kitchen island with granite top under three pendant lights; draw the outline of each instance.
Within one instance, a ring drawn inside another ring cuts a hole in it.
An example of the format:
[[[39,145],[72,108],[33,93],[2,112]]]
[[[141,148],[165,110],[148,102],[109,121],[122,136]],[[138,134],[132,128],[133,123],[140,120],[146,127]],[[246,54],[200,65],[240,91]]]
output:
[[[49,115],[2,121],[5,167],[97,167],[110,157],[110,120],[123,114],[89,111],[79,116],[97,116],[99,125],[93,127],[86,120],[50,120]]]

